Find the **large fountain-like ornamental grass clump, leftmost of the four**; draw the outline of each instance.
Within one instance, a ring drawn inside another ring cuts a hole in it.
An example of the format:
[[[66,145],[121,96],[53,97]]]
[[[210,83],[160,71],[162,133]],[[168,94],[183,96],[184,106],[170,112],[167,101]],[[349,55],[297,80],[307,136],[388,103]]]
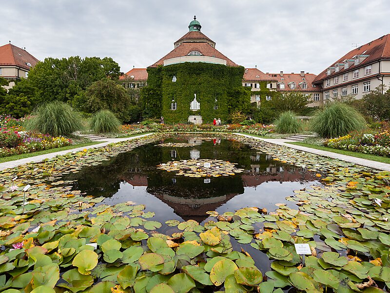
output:
[[[81,115],[60,101],[40,105],[25,122],[25,128],[52,136],[69,135],[82,128]]]

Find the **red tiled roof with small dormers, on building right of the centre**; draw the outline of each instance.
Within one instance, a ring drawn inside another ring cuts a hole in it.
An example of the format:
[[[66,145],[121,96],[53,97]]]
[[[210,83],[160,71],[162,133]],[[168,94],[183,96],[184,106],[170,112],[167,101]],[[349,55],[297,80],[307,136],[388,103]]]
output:
[[[297,91],[313,92],[321,90],[321,86],[318,84],[315,84],[315,87],[313,87],[313,81],[316,77],[316,75],[313,73],[305,73],[304,76],[301,76],[300,73],[283,73],[283,76],[281,76],[280,73],[270,73],[269,75],[275,78],[278,83],[283,82],[285,84],[285,89],[280,89],[279,86],[277,86],[277,90],[280,91],[292,90],[289,86],[289,83],[292,82],[295,83],[295,90]],[[303,78],[304,80],[302,80]],[[303,82],[306,82],[307,84],[306,89],[302,88],[300,85],[300,83]]]

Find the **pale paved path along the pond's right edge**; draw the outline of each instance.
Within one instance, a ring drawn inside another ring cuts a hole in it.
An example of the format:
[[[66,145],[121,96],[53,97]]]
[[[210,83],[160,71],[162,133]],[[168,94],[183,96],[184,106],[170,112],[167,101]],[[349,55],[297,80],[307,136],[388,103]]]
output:
[[[254,139],[263,140],[265,142],[279,145],[279,146],[288,146],[288,147],[291,147],[294,149],[307,151],[307,152],[310,152],[313,154],[317,154],[320,156],[326,156],[326,157],[338,159],[338,160],[345,161],[345,162],[350,162],[350,163],[356,164],[356,165],[362,165],[362,166],[366,166],[366,167],[370,167],[370,168],[374,168],[374,169],[378,169],[378,170],[390,171],[390,164],[361,159],[361,158],[356,158],[356,157],[351,157],[351,156],[347,156],[347,155],[337,154],[337,153],[333,153],[330,151],[315,149],[315,148],[306,147],[306,146],[296,146],[296,145],[286,144],[286,142],[291,142],[291,140],[287,140],[287,139],[259,138],[259,137],[254,137],[254,136],[242,134],[242,133],[235,133],[235,134],[243,135],[246,137],[251,137]]]

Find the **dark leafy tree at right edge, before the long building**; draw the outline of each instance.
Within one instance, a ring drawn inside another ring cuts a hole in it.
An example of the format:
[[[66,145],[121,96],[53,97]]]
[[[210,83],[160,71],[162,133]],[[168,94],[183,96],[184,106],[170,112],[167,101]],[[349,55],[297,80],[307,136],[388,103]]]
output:
[[[354,105],[364,115],[375,120],[390,119],[390,88],[379,85],[375,90],[363,96],[361,101],[355,101]]]

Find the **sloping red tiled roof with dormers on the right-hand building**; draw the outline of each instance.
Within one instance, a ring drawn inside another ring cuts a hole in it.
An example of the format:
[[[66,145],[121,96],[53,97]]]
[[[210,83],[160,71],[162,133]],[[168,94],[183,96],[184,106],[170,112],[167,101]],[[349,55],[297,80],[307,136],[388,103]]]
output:
[[[332,76],[340,74],[341,72],[351,71],[355,68],[362,67],[365,66],[366,64],[378,61],[379,59],[390,59],[390,34],[387,34],[379,39],[373,40],[365,45],[362,45],[348,52],[346,55],[341,57],[335,63],[331,64],[329,67],[332,67],[337,63],[343,63],[343,61],[346,59],[353,59],[353,57],[356,55],[369,55],[369,57],[364,59],[358,65],[352,63],[352,65],[350,65],[348,69],[344,69],[344,67],[342,67],[338,72],[332,72],[331,75],[327,75],[328,68],[326,68],[324,71],[318,74],[314,82],[319,82],[323,79],[330,78]]]

